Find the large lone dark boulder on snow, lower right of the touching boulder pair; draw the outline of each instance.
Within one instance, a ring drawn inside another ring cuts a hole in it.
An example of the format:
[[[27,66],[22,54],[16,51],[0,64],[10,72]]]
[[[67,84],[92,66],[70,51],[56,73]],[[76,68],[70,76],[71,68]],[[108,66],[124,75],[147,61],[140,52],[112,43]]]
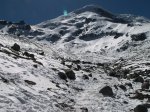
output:
[[[104,96],[112,97],[114,95],[112,88],[109,86],[103,87],[99,93],[102,93]]]

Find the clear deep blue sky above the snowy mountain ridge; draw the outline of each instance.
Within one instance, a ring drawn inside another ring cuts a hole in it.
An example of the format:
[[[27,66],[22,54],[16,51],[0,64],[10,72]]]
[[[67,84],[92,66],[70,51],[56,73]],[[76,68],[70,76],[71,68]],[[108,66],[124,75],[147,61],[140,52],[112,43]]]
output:
[[[96,4],[113,13],[150,18],[150,0],[0,0],[0,19],[30,24],[55,18],[85,5]]]

